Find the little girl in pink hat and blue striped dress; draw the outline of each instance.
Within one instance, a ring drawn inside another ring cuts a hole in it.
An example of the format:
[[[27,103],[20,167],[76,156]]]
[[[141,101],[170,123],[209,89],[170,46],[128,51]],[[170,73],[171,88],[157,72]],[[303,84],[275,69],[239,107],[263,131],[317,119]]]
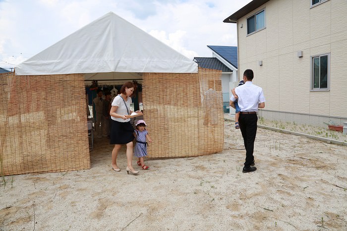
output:
[[[138,120],[135,123],[136,130],[135,130],[135,137],[136,137],[136,144],[135,144],[135,150],[134,150],[134,156],[138,158],[137,165],[141,166],[143,170],[149,169],[148,166],[145,166],[145,163],[143,161],[143,157],[147,156],[147,146],[148,143],[146,143],[147,140],[151,143],[152,139],[148,135],[148,131],[146,130],[146,122],[142,119]]]

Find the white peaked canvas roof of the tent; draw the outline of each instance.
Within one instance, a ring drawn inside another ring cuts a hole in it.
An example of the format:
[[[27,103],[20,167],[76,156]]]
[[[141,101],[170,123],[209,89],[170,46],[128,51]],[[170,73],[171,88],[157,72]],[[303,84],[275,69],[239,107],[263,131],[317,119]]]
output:
[[[197,64],[113,12],[18,64],[16,75],[85,73],[85,79],[193,73]]]

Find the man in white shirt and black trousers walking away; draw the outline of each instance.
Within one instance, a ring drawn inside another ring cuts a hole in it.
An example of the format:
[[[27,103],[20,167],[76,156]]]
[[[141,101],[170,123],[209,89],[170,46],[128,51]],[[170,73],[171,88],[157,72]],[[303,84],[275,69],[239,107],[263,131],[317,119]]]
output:
[[[238,97],[238,106],[240,107],[240,116],[238,118],[240,130],[243,137],[244,147],[246,149],[246,161],[242,173],[254,172],[257,168],[254,166],[254,140],[257,133],[257,112],[258,108],[265,107],[265,98],[263,89],[252,83],[254,74],[251,69],[243,73],[244,84],[235,88]],[[235,108],[235,98],[231,95],[230,106]]]

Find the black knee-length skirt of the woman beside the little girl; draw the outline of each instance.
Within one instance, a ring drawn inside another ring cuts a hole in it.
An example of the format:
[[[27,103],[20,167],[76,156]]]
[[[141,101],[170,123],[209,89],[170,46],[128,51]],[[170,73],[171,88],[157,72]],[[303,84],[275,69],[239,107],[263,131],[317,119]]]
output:
[[[135,139],[134,127],[130,122],[118,122],[111,119],[111,140],[110,144],[127,144]]]

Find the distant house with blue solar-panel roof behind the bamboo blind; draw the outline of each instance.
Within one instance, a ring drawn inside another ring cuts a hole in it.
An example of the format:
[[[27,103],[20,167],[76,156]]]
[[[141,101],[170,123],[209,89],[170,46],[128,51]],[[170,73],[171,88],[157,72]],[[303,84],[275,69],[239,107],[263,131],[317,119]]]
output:
[[[238,83],[237,76],[237,47],[207,46],[212,51],[212,57],[194,57],[200,67],[222,70],[223,110],[225,113],[234,114],[229,109],[231,89]]]

